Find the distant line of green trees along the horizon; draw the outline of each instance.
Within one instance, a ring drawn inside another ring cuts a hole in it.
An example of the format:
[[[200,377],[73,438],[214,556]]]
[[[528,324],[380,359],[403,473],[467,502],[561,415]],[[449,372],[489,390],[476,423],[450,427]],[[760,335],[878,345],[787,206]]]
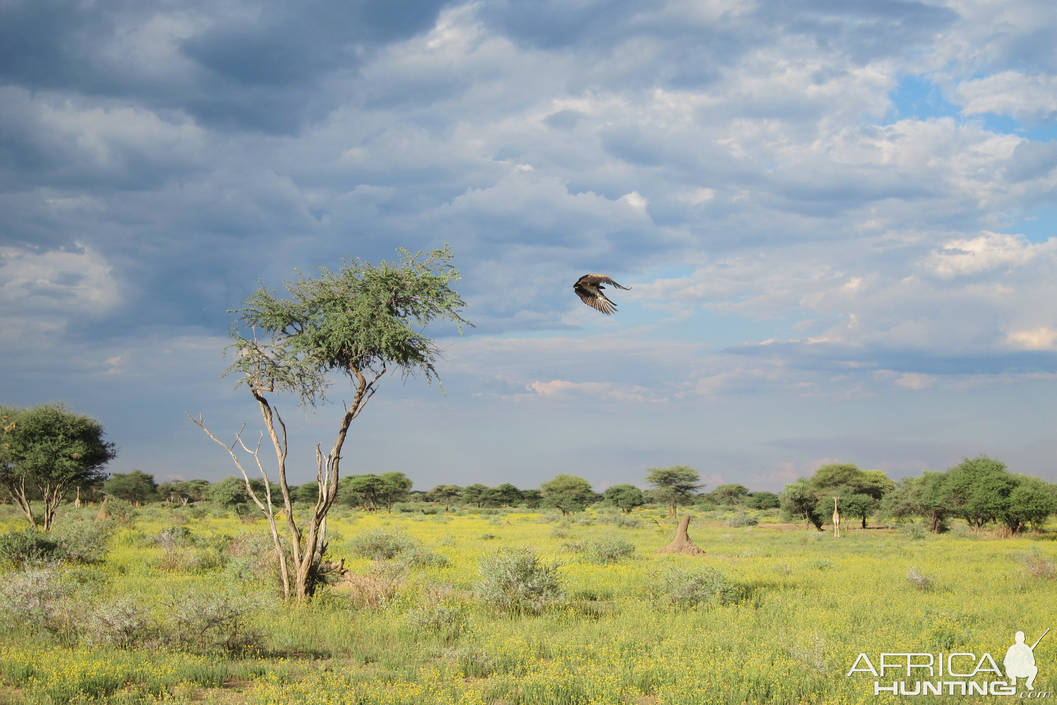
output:
[[[252,509],[251,491],[265,493],[264,481],[240,477],[210,483],[206,480],[173,480],[157,483],[141,470],[108,476],[104,466],[117,449],[104,440],[95,420],[62,405],[44,404],[29,409],[0,407],[0,499],[17,503],[32,525],[48,531],[63,500],[100,500],[113,497],[133,503],[161,501],[182,506],[211,501],[234,507],[240,515]],[[704,491],[693,468],[675,465],[648,470],[642,489],[624,483],[594,491],[580,477],[558,475],[538,489],[519,489],[511,483],[489,487],[481,483],[464,487],[437,485],[412,490],[404,472],[351,475],[340,478],[335,501],[365,511],[392,512],[400,502],[428,502],[449,511],[460,507],[525,507],[556,509],[562,514],[582,512],[591,505],[631,513],[641,506],[662,506],[674,515],[680,506],[698,511],[719,507],[771,509],[780,507],[786,520],[814,525],[821,531],[832,517],[834,503],[840,514],[860,522],[871,517],[920,518],[932,532],[943,532],[952,519],[962,519],[973,530],[989,524],[1016,534],[1040,528],[1057,512],[1057,485],[1039,478],[1009,472],[999,460],[979,456],[964,458],[944,471],[926,470],[920,476],[893,482],[882,470],[865,470],[848,463],[819,467],[810,478],[785,486],[780,495],[750,491],[741,484],[724,484]],[[281,493],[270,486],[273,504]],[[312,505],[319,497],[316,482],[289,487],[295,503]],[[835,499],[836,498],[836,499]],[[33,508],[37,502],[42,511]]]

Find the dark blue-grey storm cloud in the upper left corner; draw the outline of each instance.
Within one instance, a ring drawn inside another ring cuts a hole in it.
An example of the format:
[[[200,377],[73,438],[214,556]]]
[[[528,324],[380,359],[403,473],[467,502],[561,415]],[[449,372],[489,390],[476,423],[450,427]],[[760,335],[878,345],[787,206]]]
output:
[[[224,130],[295,133],[340,99],[320,91],[326,75],[430,29],[443,5],[15,0],[0,8],[0,80],[179,109]]]

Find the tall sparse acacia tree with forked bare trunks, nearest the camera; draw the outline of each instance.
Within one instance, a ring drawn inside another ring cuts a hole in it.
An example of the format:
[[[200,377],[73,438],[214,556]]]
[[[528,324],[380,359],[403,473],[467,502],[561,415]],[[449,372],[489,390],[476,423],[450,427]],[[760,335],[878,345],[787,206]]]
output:
[[[318,267],[314,278],[285,282],[286,298],[261,286],[231,312],[239,318],[228,331],[235,340],[228,349],[237,354],[225,374],[241,375],[237,386],[245,386],[257,402],[275,448],[298,601],[311,596],[327,551],[327,514],[337,497],[350,424],[391,369],[405,378],[422,374],[427,383],[437,377],[441,348],[422,334],[426,326],[450,320],[462,332],[466,322],[459,315],[465,301],[451,289],[459,272],[450,263],[450,247],[425,256],[397,253],[398,262],[376,266],[347,259],[338,272]],[[316,407],[327,402],[331,372],[348,377],[352,398],[333,445],[323,451],[316,444],[316,502],[299,524],[286,482],[286,426],[267,395],[293,394],[302,408]]]

